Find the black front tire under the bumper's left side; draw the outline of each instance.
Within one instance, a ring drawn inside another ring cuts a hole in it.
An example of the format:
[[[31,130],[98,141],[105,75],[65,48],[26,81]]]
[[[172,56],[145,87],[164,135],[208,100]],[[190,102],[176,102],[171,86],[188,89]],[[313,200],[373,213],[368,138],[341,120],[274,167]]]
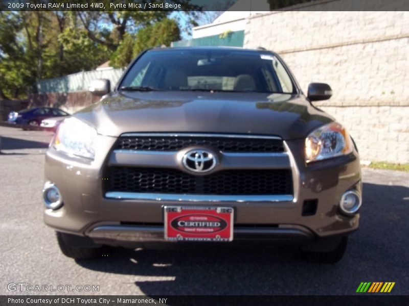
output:
[[[87,237],[56,232],[61,252],[74,259],[96,259],[102,257],[106,249]]]

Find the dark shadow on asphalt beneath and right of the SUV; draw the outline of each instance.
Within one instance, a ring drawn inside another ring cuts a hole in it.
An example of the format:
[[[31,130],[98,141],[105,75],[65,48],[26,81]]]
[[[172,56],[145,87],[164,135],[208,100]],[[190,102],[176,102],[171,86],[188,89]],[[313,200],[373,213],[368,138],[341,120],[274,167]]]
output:
[[[396,282],[407,294],[409,188],[363,184],[359,230],[335,265],[304,262],[282,245],[118,248],[108,257],[77,261],[87,269],[135,276],[146,295],[355,294],[363,281]],[[400,284],[400,285],[399,285]]]

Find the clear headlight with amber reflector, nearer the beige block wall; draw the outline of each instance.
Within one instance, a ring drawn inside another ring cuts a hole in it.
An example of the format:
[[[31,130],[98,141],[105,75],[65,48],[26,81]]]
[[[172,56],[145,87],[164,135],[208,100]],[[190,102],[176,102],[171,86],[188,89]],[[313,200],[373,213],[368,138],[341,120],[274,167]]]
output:
[[[307,163],[351,152],[351,137],[344,127],[336,122],[319,127],[305,139],[305,161]]]

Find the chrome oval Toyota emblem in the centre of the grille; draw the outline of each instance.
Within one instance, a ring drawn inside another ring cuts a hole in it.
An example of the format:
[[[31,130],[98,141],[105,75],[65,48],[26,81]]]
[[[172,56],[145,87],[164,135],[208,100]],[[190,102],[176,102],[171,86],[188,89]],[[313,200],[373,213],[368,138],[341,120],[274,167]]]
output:
[[[208,172],[216,166],[217,160],[209,151],[190,150],[184,155],[182,163],[190,171]]]

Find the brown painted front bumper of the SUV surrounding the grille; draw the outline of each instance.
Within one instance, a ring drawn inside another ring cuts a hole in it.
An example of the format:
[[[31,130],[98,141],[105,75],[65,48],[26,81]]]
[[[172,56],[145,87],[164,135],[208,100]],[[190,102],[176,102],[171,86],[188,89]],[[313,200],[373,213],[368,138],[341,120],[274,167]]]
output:
[[[98,137],[100,146],[93,162],[67,156],[54,148],[47,152],[46,180],[58,186],[64,202],[58,210],[44,211],[44,221],[55,230],[119,245],[162,241],[164,206],[220,205],[200,199],[108,198],[102,188],[106,179],[103,169],[109,163],[116,138]],[[286,146],[293,173],[292,198],[223,200],[223,206],[235,209],[235,240],[314,240],[355,231],[359,214],[344,216],[338,204],[347,190],[361,192],[357,152],[307,166],[304,140],[287,141]],[[316,211],[305,214],[306,202],[311,200],[316,200]]]

